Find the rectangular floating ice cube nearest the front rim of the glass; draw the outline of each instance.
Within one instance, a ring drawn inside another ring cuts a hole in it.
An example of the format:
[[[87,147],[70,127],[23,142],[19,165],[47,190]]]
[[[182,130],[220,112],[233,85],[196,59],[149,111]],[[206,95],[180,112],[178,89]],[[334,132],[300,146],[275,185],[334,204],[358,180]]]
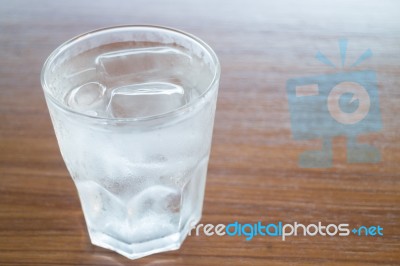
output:
[[[149,82],[114,89],[106,111],[115,118],[146,117],[173,111],[186,102],[181,86]]]

